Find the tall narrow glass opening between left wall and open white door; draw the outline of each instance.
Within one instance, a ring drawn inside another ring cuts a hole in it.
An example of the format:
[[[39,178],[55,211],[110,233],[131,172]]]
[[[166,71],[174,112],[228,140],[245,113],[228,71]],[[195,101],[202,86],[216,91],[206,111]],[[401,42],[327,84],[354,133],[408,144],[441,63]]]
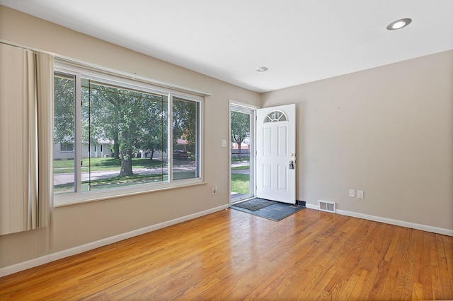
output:
[[[255,110],[231,105],[231,203],[255,195],[253,129]]]

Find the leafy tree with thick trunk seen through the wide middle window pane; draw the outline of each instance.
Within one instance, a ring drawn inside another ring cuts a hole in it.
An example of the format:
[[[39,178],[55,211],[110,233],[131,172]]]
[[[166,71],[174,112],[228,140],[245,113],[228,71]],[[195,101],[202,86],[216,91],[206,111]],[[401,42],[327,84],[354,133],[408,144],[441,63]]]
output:
[[[163,135],[162,96],[93,83],[86,88],[89,101],[83,115],[91,141],[113,140],[115,158],[121,159],[120,176],[133,175],[132,158],[139,149],[163,148],[157,142]]]

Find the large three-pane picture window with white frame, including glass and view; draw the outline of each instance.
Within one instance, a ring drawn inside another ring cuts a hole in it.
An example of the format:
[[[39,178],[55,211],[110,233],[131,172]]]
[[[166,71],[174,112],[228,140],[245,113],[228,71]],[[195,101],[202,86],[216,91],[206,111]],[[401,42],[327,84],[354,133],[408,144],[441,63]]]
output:
[[[70,67],[54,87],[56,204],[201,182],[200,97]]]

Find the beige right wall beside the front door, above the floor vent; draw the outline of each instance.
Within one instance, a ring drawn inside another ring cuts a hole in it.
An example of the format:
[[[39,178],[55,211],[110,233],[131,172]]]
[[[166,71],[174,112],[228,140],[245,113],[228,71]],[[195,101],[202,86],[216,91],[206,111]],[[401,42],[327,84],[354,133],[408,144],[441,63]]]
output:
[[[292,102],[299,200],[453,230],[453,51],[262,98]]]

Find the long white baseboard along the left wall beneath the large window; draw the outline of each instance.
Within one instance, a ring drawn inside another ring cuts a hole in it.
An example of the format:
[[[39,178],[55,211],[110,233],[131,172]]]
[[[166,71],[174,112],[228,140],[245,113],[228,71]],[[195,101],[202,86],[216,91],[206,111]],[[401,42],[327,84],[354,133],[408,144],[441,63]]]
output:
[[[185,222],[186,220],[192,220],[194,218],[199,218],[200,216],[205,216],[205,215],[210,214],[210,213],[214,213],[214,212],[217,212],[217,211],[222,211],[222,210],[224,210],[224,209],[226,209],[228,207],[229,207],[228,204],[222,205],[222,206],[219,206],[219,207],[216,207],[216,208],[212,208],[212,209],[208,209],[208,210],[205,210],[205,211],[193,213],[193,214],[190,214],[188,216],[175,218],[174,220],[167,220],[167,221],[165,221],[163,223],[159,223],[159,224],[156,224],[156,225],[150,225],[148,227],[137,229],[137,230],[133,230],[133,231],[126,232],[126,233],[122,233],[120,235],[107,237],[107,238],[104,238],[103,240],[97,240],[96,242],[90,242],[88,244],[82,244],[81,246],[73,247],[71,249],[65,249],[63,251],[55,252],[55,253],[48,254],[48,255],[45,255],[45,256],[41,256],[41,257],[38,257],[38,258],[35,258],[35,259],[31,259],[31,260],[28,260],[28,261],[23,261],[23,262],[20,262],[18,264],[13,264],[12,266],[5,266],[4,268],[0,268],[0,277],[6,276],[6,275],[10,275],[12,273],[17,273],[19,271],[24,271],[24,270],[26,270],[28,268],[34,268],[35,266],[40,266],[41,264],[47,264],[49,262],[52,262],[52,261],[55,261],[55,260],[58,260],[58,259],[62,259],[62,258],[65,258],[65,257],[76,255],[76,254],[80,254],[80,253],[89,251],[91,249],[96,249],[98,247],[103,247],[103,246],[106,246],[108,244],[113,244],[115,242],[120,242],[121,240],[127,240],[130,237],[142,235],[144,233],[151,232],[151,231],[154,231],[154,230],[159,230],[161,228],[166,228],[166,227],[171,226],[171,225],[176,225],[178,223]]]

